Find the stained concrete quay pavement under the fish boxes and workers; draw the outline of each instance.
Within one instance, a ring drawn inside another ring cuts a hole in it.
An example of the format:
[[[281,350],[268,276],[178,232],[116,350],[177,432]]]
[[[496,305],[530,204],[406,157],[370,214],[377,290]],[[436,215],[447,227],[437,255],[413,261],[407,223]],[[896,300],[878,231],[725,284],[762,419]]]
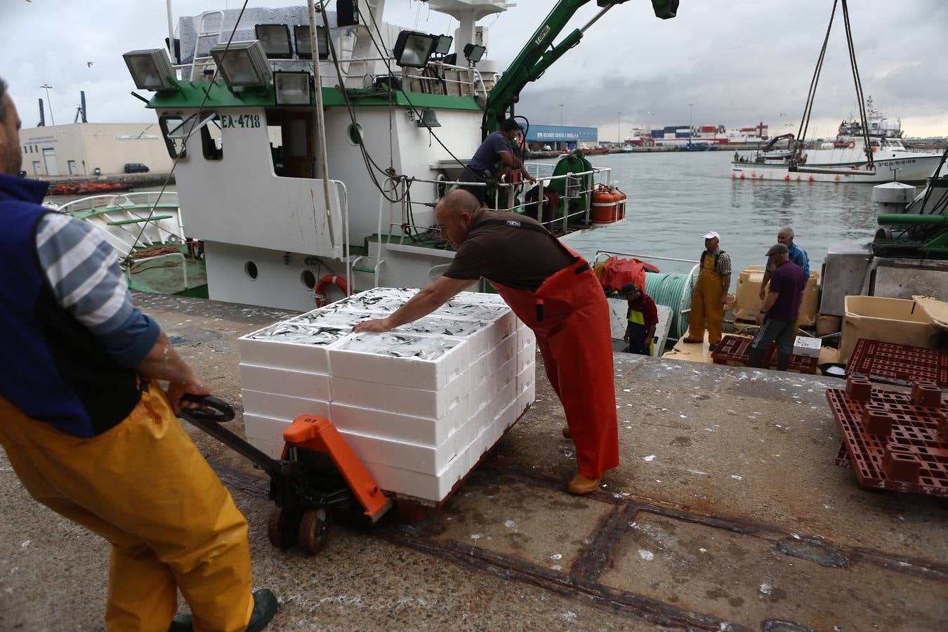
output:
[[[236,338],[287,315],[136,300],[238,409]],[[948,627],[948,504],[834,464],[842,382],[622,353],[614,373],[622,462],[593,495],[563,491],[574,446],[538,366],[535,405],[444,506],[334,524],[316,557],[274,549],[266,481],[189,430],[250,522],[272,629]],[[27,497],[2,451],[0,498],[0,629],[100,629],[105,543]]]

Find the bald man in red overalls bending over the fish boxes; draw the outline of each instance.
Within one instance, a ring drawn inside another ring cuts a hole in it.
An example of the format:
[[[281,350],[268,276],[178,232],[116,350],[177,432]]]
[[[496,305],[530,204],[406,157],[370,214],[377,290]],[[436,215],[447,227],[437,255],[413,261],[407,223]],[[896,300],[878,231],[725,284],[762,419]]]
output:
[[[589,494],[619,464],[609,304],[589,263],[536,220],[481,208],[454,190],[434,209],[457,254],[445,273],[392,316],[356,332],[388,332],[427,316],[482,277],[534,334],[550,384],[566,411],[563,434],[576,446],[578,472],[567,489]]]

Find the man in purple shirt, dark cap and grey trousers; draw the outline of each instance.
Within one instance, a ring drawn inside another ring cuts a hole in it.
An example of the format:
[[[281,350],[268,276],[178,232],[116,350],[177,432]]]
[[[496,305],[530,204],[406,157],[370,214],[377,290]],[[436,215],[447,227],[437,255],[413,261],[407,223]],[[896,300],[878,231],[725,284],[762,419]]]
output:
[[[803,269],[790,261],[786,244],[772,245],[767,251],[772,268],[770,287],[764,298],[757,324],[760,331],[751,345],[748,367],[759,367],[764,352],[776,340],[776,370],[787,370],[793,353],[793,324],[800,312],[800,299],[806,280]]]

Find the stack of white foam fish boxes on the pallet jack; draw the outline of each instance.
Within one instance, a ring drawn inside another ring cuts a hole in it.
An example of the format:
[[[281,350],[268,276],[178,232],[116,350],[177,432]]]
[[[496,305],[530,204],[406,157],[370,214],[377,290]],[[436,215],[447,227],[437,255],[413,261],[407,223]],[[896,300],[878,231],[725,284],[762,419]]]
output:
[[[240,339],[246,436],[267,454],[328,418],[387,492],[447,497],[534,401],[536,339],[496,295],[463,292],[387,334],[353,334],[417,290],[375,288]]]

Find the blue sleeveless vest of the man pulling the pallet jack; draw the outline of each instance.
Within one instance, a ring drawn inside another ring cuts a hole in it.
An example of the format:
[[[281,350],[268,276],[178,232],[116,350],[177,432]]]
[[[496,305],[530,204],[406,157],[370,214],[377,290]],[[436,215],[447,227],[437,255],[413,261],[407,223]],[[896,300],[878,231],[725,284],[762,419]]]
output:
[[[36,255],[45,193],[46,183],[0,173],[0,395],[27,417],[95,437],[131,413],[141,390],[46,281]]]

